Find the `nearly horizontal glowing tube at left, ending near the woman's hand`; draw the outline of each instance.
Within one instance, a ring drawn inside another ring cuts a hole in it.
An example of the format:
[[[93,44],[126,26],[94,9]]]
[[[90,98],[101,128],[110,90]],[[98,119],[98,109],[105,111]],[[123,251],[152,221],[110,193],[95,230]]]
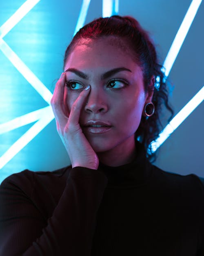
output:
[[[12,131],[21,126],[28,125],[32,122],[39,120],[40,118],[45,116],[45,114],[48,113],[47,109],[49,109],[49,108],[51,108],[51,106],[46,106],[42,109],[35,110],[35,111],[27,113],[23,116],[14,118],[13,120],[10,120],[8,122],[4,122],[3,124],[0,124],[0,134],[3,134],[8,131]]]

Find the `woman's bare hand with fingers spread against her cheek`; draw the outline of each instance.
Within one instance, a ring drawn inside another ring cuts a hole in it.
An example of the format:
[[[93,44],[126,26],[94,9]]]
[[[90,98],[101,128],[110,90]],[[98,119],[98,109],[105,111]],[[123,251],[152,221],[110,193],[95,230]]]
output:
[[[80,112],[86,97],[89,95],[90,86],[87,86],[86,90],[83,90],[75,100],[68,117],[63,102],[65,82],[66,73],[62,73],[51,99],[58,134],[69,154],[72,168],[81,166],[97,170],[98,156],[84,136],[79,124]]]

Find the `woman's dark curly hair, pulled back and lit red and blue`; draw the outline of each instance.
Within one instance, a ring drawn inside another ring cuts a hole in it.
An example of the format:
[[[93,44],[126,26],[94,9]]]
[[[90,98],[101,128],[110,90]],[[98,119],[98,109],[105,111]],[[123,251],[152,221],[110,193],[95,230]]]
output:
[[[118,15],[93,20],[82,27],[73,37],[64,55],[64,66],[67,57],[81,39],[99,39],[103,36],[118,36],[126,41],[134,54],[135,61],[142,68],[144,90],[146,92],[154,90],[152,102],[155,106],[155,112],[153,116],[148,118],[142,116],[140,125],[135,132],[135,139],[144,145],[149,160],[154,161],[156,156],[155,152],[151,150],[151,142],[158,138],[163,128],[160,121],[162,105],[171,112],[169,120],[173,116],[173,110],[168,102],[166,77],[162,71],[162,66],[158,63],[155,46],[148,32],[142,29],[140,23],[131,16]],[[152,77],[155,77],[153,88],[150,86]]]

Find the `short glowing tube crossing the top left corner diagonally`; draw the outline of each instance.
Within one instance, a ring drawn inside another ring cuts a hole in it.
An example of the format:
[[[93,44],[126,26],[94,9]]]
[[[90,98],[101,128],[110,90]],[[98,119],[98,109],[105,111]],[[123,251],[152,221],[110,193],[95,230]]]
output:
[[[0,27],[0,37],[4,37],[40,0],[27,0],[23,5]]]

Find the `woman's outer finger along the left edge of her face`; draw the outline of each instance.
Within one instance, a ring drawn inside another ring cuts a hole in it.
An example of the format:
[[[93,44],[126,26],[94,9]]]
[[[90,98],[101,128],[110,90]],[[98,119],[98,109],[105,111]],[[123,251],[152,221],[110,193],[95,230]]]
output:
[[[60,79],[56,83],[53,97],[51,99],[51,106],[53,109],[53,113],[54,113],[56,121],[58,121],[58,122],[63,122],[65,120],[67,122],[67,117],[63,111],[64,110],[63,99],[64,99],[65,82],[66,82],[66,73],[63,72]]]

